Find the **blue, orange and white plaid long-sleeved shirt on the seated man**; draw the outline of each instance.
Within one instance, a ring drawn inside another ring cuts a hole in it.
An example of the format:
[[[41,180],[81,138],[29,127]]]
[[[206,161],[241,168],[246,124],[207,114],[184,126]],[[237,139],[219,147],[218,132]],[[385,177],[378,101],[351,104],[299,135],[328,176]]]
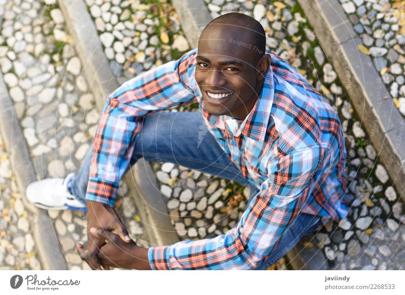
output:
[[[142,116],[197,101],[208,130],[259,188],[240,221],[211,239],[150,247],[152,269],[252,269],[300,214],[346,217],[344,135],[333,108],[291,65],[271,56],[245,120],[208,113],[194,78],[197,49],[120,86],[103,109],[94,139],[86,198],[113,205],[142,129]]]

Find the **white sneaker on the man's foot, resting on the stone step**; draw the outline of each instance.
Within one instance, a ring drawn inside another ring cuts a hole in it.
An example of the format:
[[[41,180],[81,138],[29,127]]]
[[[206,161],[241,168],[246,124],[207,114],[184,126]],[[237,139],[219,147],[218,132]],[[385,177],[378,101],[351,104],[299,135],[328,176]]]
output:
[[[73,176],[74,173],[70,173],[65,178],[48,178],[33,182],[27,187],[27,199],[42,209],[83,210],[86,204],[77,200],[67,187]]]

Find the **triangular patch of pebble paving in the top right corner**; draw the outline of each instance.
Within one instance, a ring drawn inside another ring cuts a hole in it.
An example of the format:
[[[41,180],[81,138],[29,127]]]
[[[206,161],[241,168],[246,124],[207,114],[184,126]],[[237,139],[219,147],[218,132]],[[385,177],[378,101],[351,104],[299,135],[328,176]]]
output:
[[[358,47],[360,54],[370,55],[395,106],[405,116],[404,3],[399,0],[340,2],[362,40],[363,44]]]

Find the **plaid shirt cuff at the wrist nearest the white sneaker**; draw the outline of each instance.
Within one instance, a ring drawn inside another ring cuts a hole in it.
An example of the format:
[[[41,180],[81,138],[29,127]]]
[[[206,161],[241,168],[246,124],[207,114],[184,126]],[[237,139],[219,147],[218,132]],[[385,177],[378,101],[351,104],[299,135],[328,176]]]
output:
[[[102,181],[97,178],[89,178],[86,199],[113,206],[118,190],[118,182]]]

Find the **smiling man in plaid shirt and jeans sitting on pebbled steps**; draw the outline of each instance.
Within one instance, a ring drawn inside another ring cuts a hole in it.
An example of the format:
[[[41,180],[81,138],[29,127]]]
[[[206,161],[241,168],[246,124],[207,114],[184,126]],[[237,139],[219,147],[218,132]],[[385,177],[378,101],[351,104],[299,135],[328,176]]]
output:
[[[28,188],[38,206],[74,207],[80,206],[75,197],[86,198],[91,231],[88,248],[78,244],[77,250],[92,268],[265,269],[322,217],[338,222],[346,216],[339,118],[296,69],[265,51],[265,41],[263,27],[249,16],[214,19],[198,50],[129,80],[108,97],[77,176]],[[158,113],[194,101],[199,112]],[[209,133],[201,141],[202,124]],[[140,157],[156,160],[156,154],[249,185],[240,221],[215,238],[138,247],[112,205],[128,167]],[[55,187],[63,193],[45,196]]]

